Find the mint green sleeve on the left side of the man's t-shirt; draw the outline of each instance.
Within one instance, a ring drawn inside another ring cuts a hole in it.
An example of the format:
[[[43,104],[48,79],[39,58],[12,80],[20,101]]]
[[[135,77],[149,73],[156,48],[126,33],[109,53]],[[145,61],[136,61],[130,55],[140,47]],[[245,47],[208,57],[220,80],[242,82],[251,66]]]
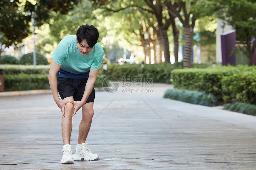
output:
[[[65,57],[67,57],[67,46],[65,45],[65,42],[60,41],[60,43],[57,45],[57,48],[52,53],[51,57],[54,62],[56,62],[59,65],[62,65]]]

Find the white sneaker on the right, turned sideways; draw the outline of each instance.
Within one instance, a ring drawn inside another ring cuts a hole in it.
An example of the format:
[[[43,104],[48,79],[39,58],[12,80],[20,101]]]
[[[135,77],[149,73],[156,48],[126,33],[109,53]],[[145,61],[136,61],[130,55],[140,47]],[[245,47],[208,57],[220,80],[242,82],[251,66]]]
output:
[[[75,147],[76,153],[73,155],[75,161],[94,161],[99,159],[99,155],[93,154],[89,148],[86,147],[86,143],[82,143],[80,150]]]

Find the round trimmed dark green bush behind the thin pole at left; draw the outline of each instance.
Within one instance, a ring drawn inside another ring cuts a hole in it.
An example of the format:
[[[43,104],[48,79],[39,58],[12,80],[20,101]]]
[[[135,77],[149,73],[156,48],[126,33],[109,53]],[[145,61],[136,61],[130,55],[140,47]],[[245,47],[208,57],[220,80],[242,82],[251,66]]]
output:
[[[24,54],[20,59],[22,65],[33,65],[33,53]],[[47,58],[40,53],[36,53],[36,65],[49,65]]]

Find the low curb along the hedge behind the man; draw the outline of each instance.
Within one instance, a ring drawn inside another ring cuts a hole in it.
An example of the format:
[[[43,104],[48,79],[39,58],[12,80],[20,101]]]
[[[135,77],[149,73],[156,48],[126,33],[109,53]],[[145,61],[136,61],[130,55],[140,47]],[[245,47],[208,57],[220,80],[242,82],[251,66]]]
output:
[[[95,87],[95,92],[104,91],[103,88]],[[0,97],[4,96],[28,96],[31,94],[51,94],[50,89],[42,90],[23,90],[23,91],[12,91],[12,92],[0,92]]]

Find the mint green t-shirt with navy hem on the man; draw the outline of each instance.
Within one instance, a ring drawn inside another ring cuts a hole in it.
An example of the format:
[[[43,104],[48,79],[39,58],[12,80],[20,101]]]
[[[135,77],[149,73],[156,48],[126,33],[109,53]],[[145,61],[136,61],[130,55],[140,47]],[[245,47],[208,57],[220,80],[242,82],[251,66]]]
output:
[[[64,37],[52,54],[52,59],[61,65],[61,69],[74,74],[84,74],[93,70],[98,70],[103,60],[103,48],[97,42],[92,51],[87,55],[80,54],[77,49],[76,35]]]

